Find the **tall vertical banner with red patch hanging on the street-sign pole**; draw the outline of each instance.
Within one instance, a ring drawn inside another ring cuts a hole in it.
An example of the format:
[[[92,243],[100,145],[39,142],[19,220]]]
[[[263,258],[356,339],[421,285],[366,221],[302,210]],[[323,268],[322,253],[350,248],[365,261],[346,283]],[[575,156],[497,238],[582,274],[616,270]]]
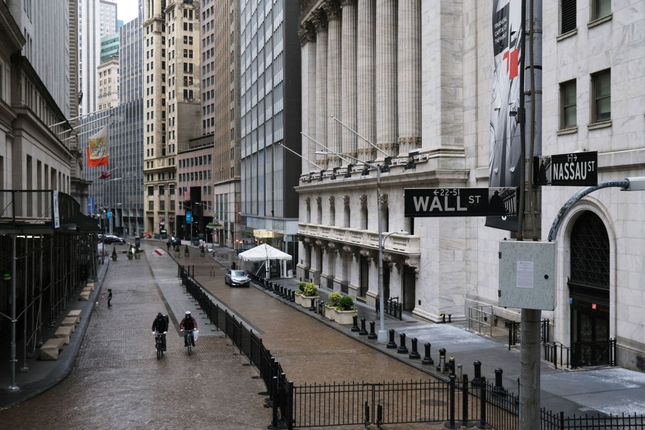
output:
[[[490,113],[489,187],[522,186],[522,127],[519,122],[524,37],[522,0],[493,0],[495,73]],[[517,230],[517,216],[489,216],[486,225]]]

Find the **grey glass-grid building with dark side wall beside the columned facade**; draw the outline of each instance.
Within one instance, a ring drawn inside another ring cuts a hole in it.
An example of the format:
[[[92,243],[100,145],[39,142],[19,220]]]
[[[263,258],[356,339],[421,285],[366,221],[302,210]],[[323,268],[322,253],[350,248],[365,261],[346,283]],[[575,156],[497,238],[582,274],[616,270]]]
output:
[[[299,7],[289,0],[240,3],[241,234],[244,247],[265,240],[297,259],[296,156],[299,118]],[[295,176],[294,176],[295,175]],[[262,239],[260,239],[262,238]]]

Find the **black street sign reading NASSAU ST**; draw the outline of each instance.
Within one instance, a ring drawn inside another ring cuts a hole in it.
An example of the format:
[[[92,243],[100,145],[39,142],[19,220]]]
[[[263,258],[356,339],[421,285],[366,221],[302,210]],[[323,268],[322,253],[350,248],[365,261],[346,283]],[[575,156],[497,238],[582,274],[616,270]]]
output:
[[[598,152],[536,156],[533,177],[535,185],[598,185]]]

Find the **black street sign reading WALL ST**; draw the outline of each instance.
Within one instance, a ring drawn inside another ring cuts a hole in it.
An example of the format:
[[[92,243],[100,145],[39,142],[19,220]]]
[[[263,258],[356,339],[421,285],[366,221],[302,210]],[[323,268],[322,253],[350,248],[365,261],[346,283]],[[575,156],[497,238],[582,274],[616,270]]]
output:
[[[406,217],[515,216],[519,189],[406,188]]]

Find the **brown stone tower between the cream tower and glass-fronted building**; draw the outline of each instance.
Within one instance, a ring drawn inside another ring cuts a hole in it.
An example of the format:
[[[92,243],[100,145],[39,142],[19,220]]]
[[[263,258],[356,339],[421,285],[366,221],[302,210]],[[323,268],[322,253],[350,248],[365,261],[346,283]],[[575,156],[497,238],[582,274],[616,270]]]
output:
[[[213,221],[223,227],[213,230],[215,241],[231,248],[240,239],[239,7],[239,0],[204,0],[200,8],[201,130],[214,144],[213,195],[208,198],[214,204]]]

